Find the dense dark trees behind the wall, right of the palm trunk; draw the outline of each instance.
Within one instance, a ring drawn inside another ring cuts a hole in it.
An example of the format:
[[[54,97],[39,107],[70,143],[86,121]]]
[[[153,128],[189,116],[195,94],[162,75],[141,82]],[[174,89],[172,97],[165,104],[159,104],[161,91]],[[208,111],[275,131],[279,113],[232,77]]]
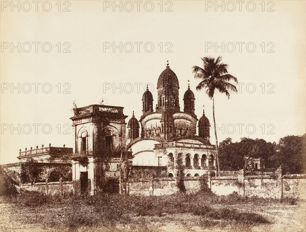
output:
[[[282,166],[285,173],[306,171],[306,134],[288,135],[278,144],[246,137],[233,143],[231,138],[226,138],[220,143],[219,152],[221,170],[240,170],[245,165],[244,157],[252,157],[263,158],[268,169]]]

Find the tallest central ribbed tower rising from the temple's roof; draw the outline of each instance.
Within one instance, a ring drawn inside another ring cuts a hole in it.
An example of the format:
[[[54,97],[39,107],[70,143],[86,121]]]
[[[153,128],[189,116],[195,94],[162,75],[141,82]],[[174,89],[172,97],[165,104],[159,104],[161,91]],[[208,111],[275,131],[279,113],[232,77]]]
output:
[[[180,112],[179,88],[179,80],[167,63],[166,69],[161,73],[157,82],[158,113],[163,113],[166,109],[172,113]]]

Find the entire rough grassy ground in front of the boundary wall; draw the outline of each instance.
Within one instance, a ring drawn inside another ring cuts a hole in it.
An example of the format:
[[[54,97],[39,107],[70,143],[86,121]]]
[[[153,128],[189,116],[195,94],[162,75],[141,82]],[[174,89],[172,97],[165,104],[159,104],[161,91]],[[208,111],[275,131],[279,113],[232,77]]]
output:
[[[212,193],[1,199],[1,231],[305,231],[305,202]]]

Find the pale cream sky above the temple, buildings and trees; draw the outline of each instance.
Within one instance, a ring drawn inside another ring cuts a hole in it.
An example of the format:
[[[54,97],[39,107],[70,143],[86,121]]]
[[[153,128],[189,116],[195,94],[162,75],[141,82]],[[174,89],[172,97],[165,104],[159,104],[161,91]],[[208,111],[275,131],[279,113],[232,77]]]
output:
[[[148,84],[169,66],[190,88],[198,119],[213,124],[212,100],[195,89],[192,66],[222,56],[238,93],[216,93],[218,141],[277,142],[305,133],[304,1],[1,2],[1,156],[73,147],[72,102],[123,106],[140,119]],[[138,5],[139,4],[139,5]],[[218,4],[218,6],[216,6]],[[211,143],[215,143],[211,127]]]

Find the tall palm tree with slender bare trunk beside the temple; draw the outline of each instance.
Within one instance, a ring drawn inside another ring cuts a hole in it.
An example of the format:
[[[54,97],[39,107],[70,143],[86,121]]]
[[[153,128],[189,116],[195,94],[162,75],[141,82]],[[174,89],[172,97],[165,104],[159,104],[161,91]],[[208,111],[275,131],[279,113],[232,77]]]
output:
[[[227,73],[227,64],[221,63],[222,57],[219,56],[217,59],[213,57],[204,57],[201,58],[203,61],[203,67],[193,66],[193,73],[195,73],[194,78],[201,79],[201,82],[196,86],[197,90],[202,88],[206,89],[206,93],[210,99],[213,100],[213,119],[215,127],[215,138],[216,138],[216,159],[217,159],[217,169],[218,176],[220,176],[220,166],[219,166],[219,147],[218,147],[218,138],[216,130],[216,120],[215,120],[215,101],[214,94],[215,90],[225,94],[228,99],[230,98],[230,92],[237,92],[237,88],[234,84],[228,81],[234,81],[238,83],[237,78]]]

